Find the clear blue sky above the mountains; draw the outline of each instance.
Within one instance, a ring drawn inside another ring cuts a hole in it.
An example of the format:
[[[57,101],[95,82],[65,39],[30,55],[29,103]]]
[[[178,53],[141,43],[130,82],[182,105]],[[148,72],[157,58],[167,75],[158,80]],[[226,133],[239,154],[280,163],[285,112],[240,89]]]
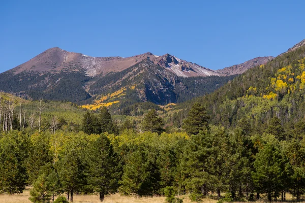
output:
[[[1,1],[0,72],[51,47],[90,56],[170,53],[217,70],[303,40],[304,8],[281,0]]]

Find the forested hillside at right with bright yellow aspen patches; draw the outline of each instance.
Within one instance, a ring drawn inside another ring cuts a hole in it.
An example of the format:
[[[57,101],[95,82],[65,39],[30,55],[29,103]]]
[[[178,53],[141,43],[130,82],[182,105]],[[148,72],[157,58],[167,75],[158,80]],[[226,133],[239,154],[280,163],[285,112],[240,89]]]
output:
[[[265,65],[237,76],[213,93],[193,99],[199,101],[210,116],[210,122],[234,128],[239,122],[248,122],[261,132],[264,124],[278,117],[290,129],[304,118],[304,57],[305,46],[284,53]],[[176,109],[185,109],[186,103]],[[188,110],[179,111],[183,119]]]

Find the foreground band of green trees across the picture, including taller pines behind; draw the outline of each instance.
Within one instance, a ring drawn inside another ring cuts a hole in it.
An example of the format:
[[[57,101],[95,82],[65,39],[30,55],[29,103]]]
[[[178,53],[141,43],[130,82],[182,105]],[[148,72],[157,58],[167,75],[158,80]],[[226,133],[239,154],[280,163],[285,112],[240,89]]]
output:
[[[164,132],[164,122],[149,111],[136,131],[131,122],[118,129],[106,108],[87,112],[82,130],[4,131],[0,137],[0,192],[21,193],[32,185],[31,200],[48,202],[73,195],[119,192],[164,195],[181,202],[214,195],[227,201],[262,196],[300,200],[305,190],[305,122],[287,133],[273,117],[263,133],[240,122],[233,130],[208,123],[195,103],[183,132]],[[222,193],[226,193],[222,196]]]

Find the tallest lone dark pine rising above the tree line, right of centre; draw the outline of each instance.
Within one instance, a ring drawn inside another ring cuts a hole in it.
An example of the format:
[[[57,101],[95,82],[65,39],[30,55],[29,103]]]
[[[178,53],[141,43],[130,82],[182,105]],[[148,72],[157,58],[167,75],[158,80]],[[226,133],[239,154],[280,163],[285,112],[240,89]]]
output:
[[[200,103],[195,103],[184,120],[182,128],[190,135],[198,134],[200,130],[208,128],[208,118],[205,108]]]

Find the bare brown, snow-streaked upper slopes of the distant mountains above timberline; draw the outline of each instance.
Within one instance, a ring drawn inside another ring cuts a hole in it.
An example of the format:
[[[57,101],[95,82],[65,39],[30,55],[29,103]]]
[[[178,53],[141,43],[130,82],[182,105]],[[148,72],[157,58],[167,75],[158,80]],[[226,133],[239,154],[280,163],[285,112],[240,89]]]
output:
[[[205,77],[205,76],[228,76],[241,74],[246,70],[271,60],[273,57],[258,57],[244,63],[226,67],[225,69],[213,71],[176,56],[165,54],[157,56],[150,52],[131,57],[92,57],[81,53],[69,52],[54,47],[35,56],[31,60],[18,65],[9,72],[19,74],[23,71],[34,71],[39,73],[56,73],[84,71],[87,76],[106,75],[111,72],[121,72],[144,59],[153,61],[156,65],[164,67],[167,71],[179,77]]]

